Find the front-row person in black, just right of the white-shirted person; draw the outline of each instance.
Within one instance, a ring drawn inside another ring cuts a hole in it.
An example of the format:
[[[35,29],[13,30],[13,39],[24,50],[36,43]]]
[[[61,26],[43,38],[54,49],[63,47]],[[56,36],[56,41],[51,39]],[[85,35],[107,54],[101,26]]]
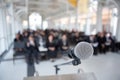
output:
[[[51,61],[54,62],[54,58],[57,57],[57,53],[56,53],[56,43],[54,41],[54,37],[52,34],[48,36],[46,46],[48,48],[48,58],[50,58]]]

